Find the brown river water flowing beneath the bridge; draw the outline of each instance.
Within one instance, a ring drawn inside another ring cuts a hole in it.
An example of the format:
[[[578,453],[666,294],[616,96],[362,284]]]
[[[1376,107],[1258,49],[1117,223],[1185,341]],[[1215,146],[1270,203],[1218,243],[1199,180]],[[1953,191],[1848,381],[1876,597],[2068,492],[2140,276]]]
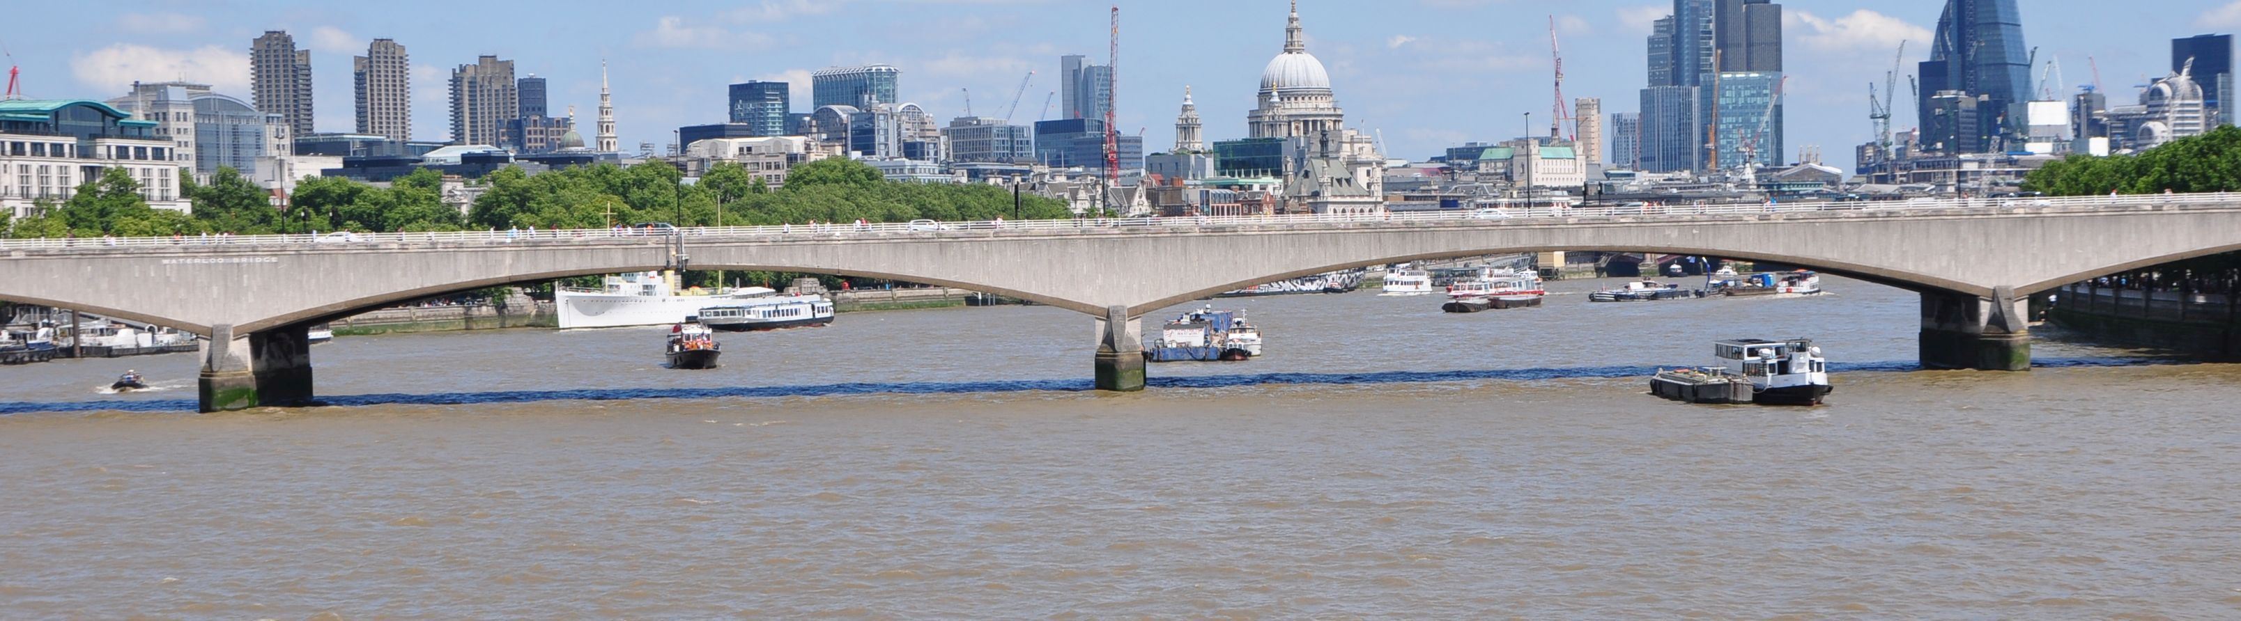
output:
[[[345,336],[338,406],[226,415],[193,354],[0,368],[0,619],[2241,617],[2241,368],[2042,330],[2051,368],[1914,372],[1907,291],[1611,282],[1217,300],[1268,354],[1138,395],[1080,390],[1049,307],[710,372],[659,330]],[[1817,339],[1835,395],[1643,392],[1726,336]]]

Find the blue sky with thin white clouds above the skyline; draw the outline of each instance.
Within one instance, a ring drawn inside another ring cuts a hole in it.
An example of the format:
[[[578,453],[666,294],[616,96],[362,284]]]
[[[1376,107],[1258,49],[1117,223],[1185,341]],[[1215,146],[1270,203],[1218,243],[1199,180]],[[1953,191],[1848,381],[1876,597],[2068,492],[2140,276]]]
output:
[[[1208,139],[1244,137],[1262,65],[1284,43],[1282,0],[1120,0],[1120,128],[1145,143],[1174,143],[1183,85],[1194,87]],[[1898,40],[1907,63],[1930,54],[1943,0],[1788,0],[1784,45],[1788,157],[1820,146],[1851,164],[1869,137],[1867,83],[1882,81]],[[2120,9],[2113,4],[2122,4]],[[670,130],[724,119],[724,85],[796,81],[809,112],[809,72],[892,63],[903,99],[937,119],[1002,117],[1020,78],[1035,72],[1015,121],[1042,117],[1058,90],[1060,54],[1105,58],[1109,2],[1080,0],[748,0],[748,2],[276,2],[143,0],[22,2],[0,31],[25,85],[40,99],[108,99],[130,81],[188,78],[249,99],[249,40],[287,29],[311,49],[318,130],[352,130],[350,56],[372,38],[412,54],[415,139],[446,139],[448,69],[477,54],[515,61],[518,74],[551,78],[554,110],[576,105],[589,126],[598,61],[610,61],[625,150],[668,143]],[[1522,135],[1522,112],[1546,132],[1551,110],[1549,20],[1564,49],[1564,94],[1600,96],[1631,112],[1643,87],[1656,0],[1302,0],[1309,52],[1331,69],[1347,123],[1380,132],[1396,157],[1425,159],[1463,141]],[[2093,81],[2111,99],[2169,67],[2169,38],[2241,29],[2241,0],[2021,0],[2024,34],[2039,58],[2059,58],[2062,83]],[[38,25],[38,27],[22,27]],[[2037,74],[2037,72],[2035,72]],[[2071,87],[2062,87],[2068,92]],[[1900,76],[1900,90],[1905,78]],[[1051,114],[1056,117],[1056,103]],[[1912,128],[1900,105],[1896,128]]]

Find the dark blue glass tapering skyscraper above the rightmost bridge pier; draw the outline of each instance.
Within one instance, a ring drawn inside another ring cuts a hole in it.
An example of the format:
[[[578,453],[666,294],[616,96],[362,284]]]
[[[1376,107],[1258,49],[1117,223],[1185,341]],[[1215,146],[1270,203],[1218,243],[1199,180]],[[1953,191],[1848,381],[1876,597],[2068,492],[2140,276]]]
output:
[[[2015,4],[2015,0],[1945,0],[1930,61],[1916,65],[1925,152],[1988,152],[1999,150],[2008,137],[2021,139],[2024,103],[2033,90],[2024,18]],[[1927,121],[1941,110],[1952,114],[1965,108],[1956,105],[1959,99],[1972,99],[1979,119]],[[1956,135],[1963,128],[1972,132]]]

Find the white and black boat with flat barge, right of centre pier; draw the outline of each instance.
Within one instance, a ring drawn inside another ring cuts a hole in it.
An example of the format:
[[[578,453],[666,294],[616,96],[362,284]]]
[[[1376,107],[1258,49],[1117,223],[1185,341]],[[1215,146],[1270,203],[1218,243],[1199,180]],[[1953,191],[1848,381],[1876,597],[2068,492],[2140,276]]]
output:
[[[1712,343],[1719,365],[1658,370],[1649,392],[1687,404],[1820,406],[1829,361],[1813,341],[1735,339]]]

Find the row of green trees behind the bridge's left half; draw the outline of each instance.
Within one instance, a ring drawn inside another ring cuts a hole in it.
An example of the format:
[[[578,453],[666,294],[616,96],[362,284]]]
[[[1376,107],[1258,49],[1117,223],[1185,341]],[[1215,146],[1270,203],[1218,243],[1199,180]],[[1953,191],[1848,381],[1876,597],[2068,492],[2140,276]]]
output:
[[[217,168],[208,184],[182,179],[190,213],[150,208],[123,168],[87,179],[69,200],[38,200],[22,220],[0,220],[7,238],[161,238],[269,233],[397,233],[482,229],[605,229],[630,224],[751,226],[807,222],[908,220],[1038,220],[1069,217],[1053,197],[1022,195],[988,184],[887,182],[878,168],[854,159],[820,159],[789,170],[769,188],[735,161],[719,161],[697,184],[663,161],[634,166],[574,166],[529,175],[518,166],[475,184],[482,195],[462,213],[444,202],[444,179],[415,170],[388,186],[343,177],[305,177],[285,208],[235,168]],[[0,213],[0,217],[9,217]]]

